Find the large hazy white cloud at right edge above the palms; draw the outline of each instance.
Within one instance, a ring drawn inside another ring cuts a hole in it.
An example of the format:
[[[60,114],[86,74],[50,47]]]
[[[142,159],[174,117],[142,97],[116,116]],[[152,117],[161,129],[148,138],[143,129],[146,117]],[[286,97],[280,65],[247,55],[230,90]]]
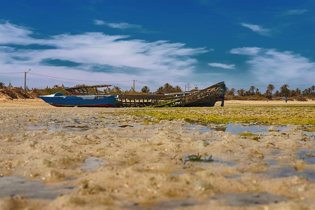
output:
[[[314,62],[293,52],[266,48],[235,48],[232,54],[247,55],[249,73],[256,80],[268,83],[312,84]]]

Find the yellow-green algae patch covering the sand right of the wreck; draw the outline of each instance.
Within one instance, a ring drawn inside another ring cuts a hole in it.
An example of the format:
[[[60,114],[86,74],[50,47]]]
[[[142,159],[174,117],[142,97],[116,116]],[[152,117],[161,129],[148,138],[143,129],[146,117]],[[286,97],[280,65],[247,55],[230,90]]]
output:
[[[234,105],[226,107],[129,108],[115,115],[142,116],[144,121],[185,120],[191,123],[259,123],[315,125],[314,105]]]

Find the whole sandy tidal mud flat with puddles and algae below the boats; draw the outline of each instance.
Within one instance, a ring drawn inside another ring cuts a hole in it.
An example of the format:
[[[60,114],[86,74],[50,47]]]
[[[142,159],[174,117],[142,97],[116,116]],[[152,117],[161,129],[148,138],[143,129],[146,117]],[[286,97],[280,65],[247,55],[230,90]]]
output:
[[[313,102],[1,100],[0,209],[312,210],[314,116]]]

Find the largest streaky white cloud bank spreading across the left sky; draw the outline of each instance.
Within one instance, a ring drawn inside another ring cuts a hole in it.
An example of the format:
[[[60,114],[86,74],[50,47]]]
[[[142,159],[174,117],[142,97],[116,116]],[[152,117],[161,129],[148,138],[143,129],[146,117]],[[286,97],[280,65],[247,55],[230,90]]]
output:
[[[172,80],[174,82],[191,75],[197,63],[193,57],[208,52],[205,48],[189,48],[184,43],[127,40],[129,36],[110,36],[99,32],[60,34],[47,39],[31,38],[31,34],[31,30],[10,23],[0,25],[1,72],[19,72],[31,68],[30,73],[89,81],[138,79],[171,83]],[[8,44],[40,44],[52,48],[21,49],[6,46]],[[80,65],[72,68],[43,64],[43,60],[58,59]],[[94,68],[100,71],[95,72]],[[36,76],[32,74],[28,75],[28,81],[32,81],[33,77],[35,82]],[[16,75],[16,80],[24,84],[24,76]],[[47,80],[37,78],[36,84],[33,87],[46,87]]]

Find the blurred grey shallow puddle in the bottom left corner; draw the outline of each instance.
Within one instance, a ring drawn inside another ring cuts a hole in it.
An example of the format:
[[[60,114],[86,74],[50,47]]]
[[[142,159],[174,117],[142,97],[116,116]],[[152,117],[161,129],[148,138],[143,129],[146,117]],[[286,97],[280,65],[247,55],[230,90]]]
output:
[[[40,181],[30,182],[21,176],[0,178],[0,197],[26,196],[30,199],[56,199],[61,194],[72,190],[73,186],[45,185]]]

